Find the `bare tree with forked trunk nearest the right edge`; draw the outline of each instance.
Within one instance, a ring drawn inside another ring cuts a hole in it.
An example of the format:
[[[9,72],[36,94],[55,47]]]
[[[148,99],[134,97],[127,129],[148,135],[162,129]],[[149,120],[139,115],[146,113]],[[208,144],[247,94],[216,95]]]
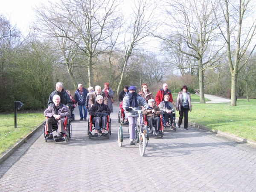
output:
[[[236,90],[239,71],[253,53],[256,44],[256,19],[253,18],[255,2],[253,0],[219,0],[221,12],[215,10],[218,27],[227,44],[227,57],[231,73],[231,106],[236,106]],[[219,16],[222,15],[222,19]],[[247,17],[246,17],[247,16]],[[255,16],[255,15],[254,15]],[[247,20],[248,17],[250,20]],[[244,25],[242,25],[244,23]],[[235,50],[234,54],[232,49]],[[249,54],[245,54],[249,52]]]

